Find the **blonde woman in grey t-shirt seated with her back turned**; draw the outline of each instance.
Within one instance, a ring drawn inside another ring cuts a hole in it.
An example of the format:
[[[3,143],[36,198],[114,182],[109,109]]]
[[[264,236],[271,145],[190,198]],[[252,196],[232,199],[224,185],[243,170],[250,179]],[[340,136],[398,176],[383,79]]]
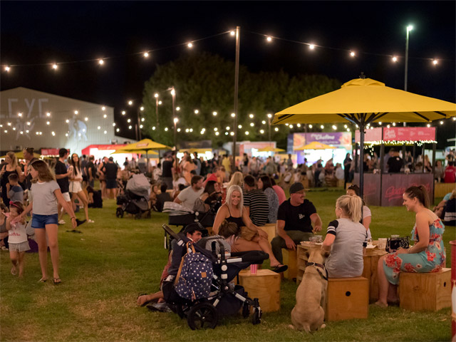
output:
[[[368,234],[360,223],[363,200],[343,195],[336,202],[336,217],[329,222],[322,249],[331,252],[326,258],[330,278],[352,278],[363,274],[363,254]]]

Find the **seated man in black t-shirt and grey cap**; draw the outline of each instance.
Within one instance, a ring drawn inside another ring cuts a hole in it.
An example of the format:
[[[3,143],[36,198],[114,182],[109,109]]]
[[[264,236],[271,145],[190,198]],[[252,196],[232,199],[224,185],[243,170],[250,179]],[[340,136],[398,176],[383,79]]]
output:
[[[271,241],[274,257],[283,261],[282,248],[296,249],[296,244],[309,241],[314,232],[321,231],[321,218],[316,213],[314,204],[304,199],[304,185],[296,182],[290,187],[290,199],[280,204],[277,214],[277,237]],[[312,229],[312,224],[314,229]]]

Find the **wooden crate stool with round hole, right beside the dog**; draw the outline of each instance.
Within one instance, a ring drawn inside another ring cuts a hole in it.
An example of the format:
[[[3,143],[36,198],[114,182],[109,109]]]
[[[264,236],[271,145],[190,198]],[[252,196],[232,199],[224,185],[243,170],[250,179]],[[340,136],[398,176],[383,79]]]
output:
[[[326,295],[326,321],[341,321],[352,318],[368,318],[369,312],[368,279],[356,278],[328,279]]]

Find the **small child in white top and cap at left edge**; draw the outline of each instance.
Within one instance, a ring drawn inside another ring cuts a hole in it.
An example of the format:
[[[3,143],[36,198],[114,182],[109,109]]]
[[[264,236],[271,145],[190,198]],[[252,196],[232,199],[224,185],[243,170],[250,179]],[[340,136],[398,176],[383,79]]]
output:
[[[9,259],[13,263],[11,274],[17,274],[19,268],[19,278],[24,276],[24,255],[30,249],[28,246],[27,233],[26,233],[26,220],[24,217],[12,223],[13,219],[19,217],[24,212],[24,204],[22,202],[9,202],[9,215],[6,219],[6,230],[8,230],[9,242]]]

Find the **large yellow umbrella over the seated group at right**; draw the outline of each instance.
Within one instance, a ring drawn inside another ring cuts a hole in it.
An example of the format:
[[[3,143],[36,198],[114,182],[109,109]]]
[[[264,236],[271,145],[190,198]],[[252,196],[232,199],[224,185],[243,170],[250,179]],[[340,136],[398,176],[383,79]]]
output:
[[[281,110],[274,115],[271,124],[349,121],[360,128],[362,151],[364,128],[368,123],[428,123],[455,115],[455,103],[390,88],[371,78],[357,78],[344,83],[341,89]],[[360,167],[360,188],[362,195],[363,167]]]

